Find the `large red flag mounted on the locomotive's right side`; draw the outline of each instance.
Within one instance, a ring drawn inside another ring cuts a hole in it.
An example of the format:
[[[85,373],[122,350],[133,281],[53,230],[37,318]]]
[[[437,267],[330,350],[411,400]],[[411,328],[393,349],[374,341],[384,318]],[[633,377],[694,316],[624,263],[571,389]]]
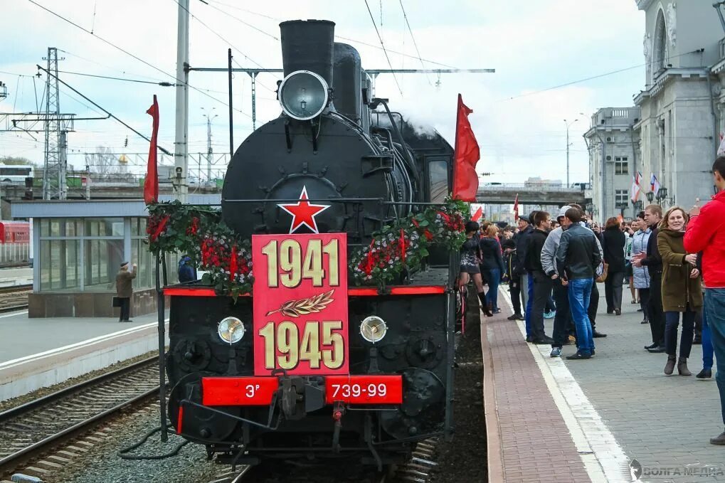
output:
[[[453,152],[453,197],[463,201],[475,202],[479,191],[479,175],[476,174],[476,162],[481,158],[479,143],[473,135],[468,115],[473,110],[463,104],[458,94],[458,112],[455,123],[455,151]]]

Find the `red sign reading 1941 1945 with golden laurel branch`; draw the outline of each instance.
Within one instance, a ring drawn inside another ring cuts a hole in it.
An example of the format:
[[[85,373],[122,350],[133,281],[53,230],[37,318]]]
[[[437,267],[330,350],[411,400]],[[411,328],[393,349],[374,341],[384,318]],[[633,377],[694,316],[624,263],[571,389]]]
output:
[[[252,235],[254,375],[346,374],[347,234]]]

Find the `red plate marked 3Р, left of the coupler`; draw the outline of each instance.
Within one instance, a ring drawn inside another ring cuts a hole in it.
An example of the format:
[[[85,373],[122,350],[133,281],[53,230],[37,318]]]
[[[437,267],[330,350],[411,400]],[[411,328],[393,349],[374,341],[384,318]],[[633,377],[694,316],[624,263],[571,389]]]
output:
[[[202,377],[202,404],[269,405],[278,385],[276,377]]]

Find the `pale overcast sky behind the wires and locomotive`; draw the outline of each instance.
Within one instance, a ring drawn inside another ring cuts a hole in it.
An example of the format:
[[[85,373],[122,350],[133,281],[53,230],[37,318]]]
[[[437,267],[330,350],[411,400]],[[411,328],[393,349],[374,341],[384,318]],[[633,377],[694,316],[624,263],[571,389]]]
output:
[[[36,110],[36,92],[40,98],[44,77],[32,76],[37,72],[36,63],[44,65],[42,57],[46,57],[49,46],[62,49],[59,55],[65,59],[59,62],[60,70],[173,82],[170,75],[175,74],[178,17],[175,0],[35,1],[93,30],[94,35],[28,0],[4,0],[0,15],[0,80],[7,84],[8,96],[0,99],[0,112]],[[579,119],[570,130],[571,181],[588,181],[587,149],[581,135],[589,128],[589,117],[599,107],[631,105],[632,95],[644,86],[644,13],[637,11],[634,0],[403,0],[413,36],[407,30],[401,1],[368,0],[368,4],[389,49],[392,67],[421,67],[421,60],[415,58],[415,39],[425,67],[443,64],[496,69],[495,74],[444,74],[440,78],[397,75],[402,95],[392,75],[381,75],[376,84],[376,94],[388,97],[394,109],[417,123],[434,125],[451,143],[456,96],[463,94],[464,102],[473,109],[470,119],[481,145],[479,172],[492,173],[487,181],[523,182],[529,176],[565,179],[565,118]],[[389,68],[364,0],[191,0],[190,10],[194,15],[190,34],[192,66],[225,67],[231,46],[241,66],[281,67],[278,23],[317,18],[336,22],[336,36],[346,38],[336,41],[355,46],[363,67]],[[621,73],[576,82],[623,69]],[[146,110],[153,94],[158,94],[159,144],[173,151],[173,88],[70,73],[59,77],[147,134],[151,131],[151,117]],[[270,74],[258,77],[257,125],[279,115],[273,93],[278,78]],[[567,83],[571,85],[552,89]],[[189,94],[189,152],[206,152],[206,120],[202,115],[210,110],[212,116],[219,115],[213,121],[213,149],[227,152],[225,73],[193,72],[189,84],[203,91],[191,90]],[[60,90],[62,112],[79,117],[99,115],[78,94],[64,86]],[[252,128],[250,95],[249,76],[236,75],[236,145]],[[85,165],[83,152],[93,152],[97,146],[107,146],[113,152],[148,152],[146,141],[114,120],[78,121],[75,130],[68,136],[68,149],[69,162],[76,168]],[[27,133],[0,133],[0,155],[24,156],[42,164],[43,135],[33,136],[37,141]],[[139,173],[145,170],[141,165],[132,169]]]

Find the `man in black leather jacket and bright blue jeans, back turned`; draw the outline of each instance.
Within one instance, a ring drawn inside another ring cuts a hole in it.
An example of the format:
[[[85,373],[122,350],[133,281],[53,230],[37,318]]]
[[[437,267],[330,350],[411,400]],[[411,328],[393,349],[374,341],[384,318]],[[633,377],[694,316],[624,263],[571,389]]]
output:
[[[577,351],[567,356],[571,360],[589,359],[594,355],[594,337],[587,307],[597,267],[602,263],[595,234],[579,224],[581,215],[576,208],[566,210],[566,218],[571,225],[561,235],[556,251],[558,273],[563,278],[562,283],[568,286],[569,307],[576,326]]]

